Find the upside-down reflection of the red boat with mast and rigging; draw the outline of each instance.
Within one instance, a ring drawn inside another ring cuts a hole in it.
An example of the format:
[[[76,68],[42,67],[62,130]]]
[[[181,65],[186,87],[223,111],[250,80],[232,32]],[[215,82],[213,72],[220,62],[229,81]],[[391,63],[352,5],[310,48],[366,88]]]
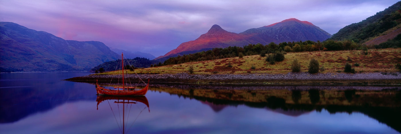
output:
[[[97,98],[96,98],[96,102],[97,102],[97,106],[96,107],[97,107],[97,109],[99,109],[98,106],[99,106],[99,104],[101,102],[107,100],[107,103],[109,103],[109,100],[111,100],[111,99],[116,99],[117,100],[117,101],[114,101],[114,103],[117,103],[117,106],[118,106],[118,104],[122,104],[123,105],[123,123],[122,123],[122,129],[120,128],[120,131],[122,131],[123,134],[126,133],[126,131],[128,131],[132,127],[132,125],[134,124],[136,119],[139,117],[139,115],[142,113],[142,111],[145,110],[146,107],[148,107],[148,111],[150,112],[149,102],[148,102],[148,99],[145,96],[103,96],[103,95],[98,95]],[[121,100],[122,100],[122,102],[121,102]],[[130,101],[132,101],[132,102],[130,102]],[[140,111],[140,113],[138,114],[138,116],[136,117],[134,122],[132,122],[131,127],[128,128],[128,130],[127,130],[126,129],[126,127],[127,127],[126,123],[128,122],[128,117],[130,116],[130,111],[131,111],[131,108],[132,108],[132,104],[137,104],[138,102],[141,102],[141,103],[145,104],[146,107],[143,110]],[[125,107],[126,107],[125,104],[127,104],[127,107],[128,107],[128,104],[131,104],[131,107],[130,107],[129,112],[128,112],[127,120],[125,119]],[[109,103],[109,106],[110,106],[110,103]],[[113,112],[113,108],[111,108],[111,106],[110,106],[110,109],[111,109],[111,112]],[[114,112],[113,112],[113,115],[114,115],[115,121],[117,122],[117,118],[115,117]],[[120,118],[120,123],[121,123],[121,118]],[[118,124],[118,122],[117,122],[117,125],[120,126]]]

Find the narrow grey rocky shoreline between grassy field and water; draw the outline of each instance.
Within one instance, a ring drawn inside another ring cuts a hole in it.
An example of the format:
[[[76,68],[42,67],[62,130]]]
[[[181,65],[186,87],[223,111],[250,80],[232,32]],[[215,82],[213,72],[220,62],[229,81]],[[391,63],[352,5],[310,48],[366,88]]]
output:
[[[99,81],[121,81],[121,75],[86,75],[65,79],[67,81],[80,81],[93,83]],[[267,84],[401,84],[401,73],[318,73],[307,72],[268,74],[210,74],[197,75],[188,73],[176,74],[126,74],[124,78],[128,81],[140,81],[139,78],[152,82],[174,82],[174,83],[267,83]]]

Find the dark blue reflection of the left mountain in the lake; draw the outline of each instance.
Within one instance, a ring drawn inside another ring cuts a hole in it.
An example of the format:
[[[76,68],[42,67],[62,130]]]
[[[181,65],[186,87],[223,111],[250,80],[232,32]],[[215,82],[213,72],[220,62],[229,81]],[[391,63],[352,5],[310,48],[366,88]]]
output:
[[[93,85],[73,82],[49,83],[48,85],[1,89],[0,123],[16,122],[66,102],[96,99]]]

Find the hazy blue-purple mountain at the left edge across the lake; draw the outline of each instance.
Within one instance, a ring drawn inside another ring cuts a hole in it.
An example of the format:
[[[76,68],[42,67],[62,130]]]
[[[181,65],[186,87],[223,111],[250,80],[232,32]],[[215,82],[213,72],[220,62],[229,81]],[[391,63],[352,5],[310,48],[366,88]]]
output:
[[[98,41],[70,41],[0,22],[0,71],[83,71],[119,59]]]

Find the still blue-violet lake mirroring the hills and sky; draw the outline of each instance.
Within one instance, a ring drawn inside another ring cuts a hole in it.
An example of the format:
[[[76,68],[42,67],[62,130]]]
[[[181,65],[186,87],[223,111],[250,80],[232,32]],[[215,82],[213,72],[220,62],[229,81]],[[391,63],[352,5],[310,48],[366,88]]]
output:
[[[399,87],[154,83],[146,97],[107,98],[96,95],[93,83],[62,81],[89,74],[0,74],[0,133],[398,134],[401,130]]]

